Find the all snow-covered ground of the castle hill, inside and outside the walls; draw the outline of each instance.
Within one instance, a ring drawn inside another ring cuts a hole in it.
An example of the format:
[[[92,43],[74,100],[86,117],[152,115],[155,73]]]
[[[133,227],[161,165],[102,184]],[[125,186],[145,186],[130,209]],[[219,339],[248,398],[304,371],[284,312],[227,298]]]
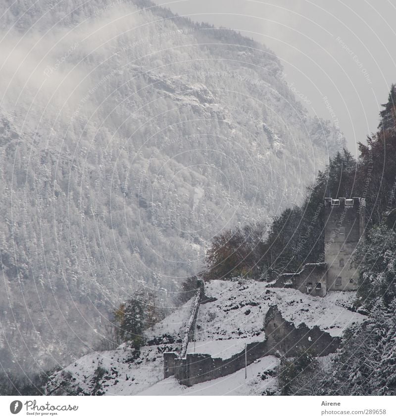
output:
[[[272,288],[255,280],[214,280],[205,284],[204,300],[198,310],[195,337],[187,353],[230,360],[245,343],[266,339],[263,324],[272,305],[297,328],[317,326],[333,337],[366,317],[351,311],[355,292],[329,292],[324,298],[295,289]],[[47,393],[55,395],[266,395],[279,393],[276,368],[279,358],[258,358],[245,369],[191,387],[174,376],[164,377],[163,353],[180,351],[194,299],[145,333],[147,346],[141,352],[122,345],[114,351],[88,354],[53,375]],[[285,337],[287,339],[287,337]],[[154,344],[155,342],[155,344]],[[330,367],[333,355],[319,360]]]

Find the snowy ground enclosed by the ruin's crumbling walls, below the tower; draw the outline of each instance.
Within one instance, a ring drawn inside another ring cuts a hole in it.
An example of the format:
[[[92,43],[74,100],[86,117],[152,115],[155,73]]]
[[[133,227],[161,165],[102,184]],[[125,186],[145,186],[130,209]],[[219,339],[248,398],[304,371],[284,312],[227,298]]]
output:
[[[322,298],[253,280],[244,284],[213,280],[205,284],[205,295],[216,300],[200,305],[197,342],[189,344],[188,352],[223,359],[239,353],[245,343],[264,340],[263,324],[271,305],[278,305],[283,317],[296,327],[316,325],[333,336],[341,336],[346,327],[365,319],[347,309],[355,292],[329,292]]]

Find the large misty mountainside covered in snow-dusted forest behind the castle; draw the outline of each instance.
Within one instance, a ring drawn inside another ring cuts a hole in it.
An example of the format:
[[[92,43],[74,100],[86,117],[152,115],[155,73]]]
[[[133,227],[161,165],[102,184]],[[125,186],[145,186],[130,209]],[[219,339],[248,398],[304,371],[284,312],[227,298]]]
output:
[[[344,145],[268,48],[148,1],[0,5],[0,359],[69,363],[139,285],[299,203]]]

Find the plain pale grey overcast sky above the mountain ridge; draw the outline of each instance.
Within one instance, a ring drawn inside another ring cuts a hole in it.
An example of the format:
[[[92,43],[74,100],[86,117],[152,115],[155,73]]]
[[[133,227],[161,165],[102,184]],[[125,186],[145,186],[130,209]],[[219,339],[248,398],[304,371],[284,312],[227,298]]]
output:
[[[312,114],[339,122],[347,146],[376,130],[396,82],[394,0],[157,0],[270,47]],[[324,98],[327,97],[325,100]],[[334,113],[331,113],[329,107]]]

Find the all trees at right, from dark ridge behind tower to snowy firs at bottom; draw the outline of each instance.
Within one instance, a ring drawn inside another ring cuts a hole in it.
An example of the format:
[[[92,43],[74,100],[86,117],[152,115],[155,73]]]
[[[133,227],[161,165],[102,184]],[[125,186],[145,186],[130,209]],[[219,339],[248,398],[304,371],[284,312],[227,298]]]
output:
[[[216,236],[206,279],[247,276],[264,280],[269,270],[297,271],[324,257],[324,197],[364,197],[366,232],[355,251],[359,268],[356,309],[367,320],[350,327],[326,371],[308,350],[282,358],[278,372],[285,395],[395,395],[396,392],[396,87],[380,112],[376,133],[330,159],[307,188],[302,205],[284,210],[269,229],[249,226]],[[303,239],[303,240],[302,240]]]

